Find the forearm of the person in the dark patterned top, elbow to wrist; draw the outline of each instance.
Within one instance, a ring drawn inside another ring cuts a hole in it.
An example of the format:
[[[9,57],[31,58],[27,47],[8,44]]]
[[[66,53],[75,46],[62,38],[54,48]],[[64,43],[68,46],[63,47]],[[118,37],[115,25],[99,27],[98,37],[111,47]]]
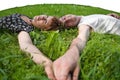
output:
[[[36,46],[32,44],[24,44],[20,46],[21,46],[20,49],[26,52],[27,55],[30,55],[31,59],[36,64],[43,64],[47,60],[47,57],[45,57],[43,53],[40,50],[38,50]]]

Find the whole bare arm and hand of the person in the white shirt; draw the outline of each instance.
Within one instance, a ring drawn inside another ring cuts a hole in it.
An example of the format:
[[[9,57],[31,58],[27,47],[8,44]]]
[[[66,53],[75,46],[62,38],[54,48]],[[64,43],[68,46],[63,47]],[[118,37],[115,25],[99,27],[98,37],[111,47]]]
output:
[[[78,80],[79,55],[86,45],[90,34],[90,27],[81,25],[78,36],[72,41],[67,52],[53,63],[53,70],[57,80]]]

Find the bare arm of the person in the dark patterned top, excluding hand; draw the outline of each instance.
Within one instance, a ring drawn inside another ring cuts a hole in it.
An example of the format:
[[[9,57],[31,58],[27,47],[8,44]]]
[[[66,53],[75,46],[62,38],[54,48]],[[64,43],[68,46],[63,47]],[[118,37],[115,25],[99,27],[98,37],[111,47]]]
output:
[[[20,49],[30,54],[35,63],[43,64],[49,61],[49,59],[45,57],[43,53],[35,45],[33,45],[31,38],[27,32],[21,31],[18,35],[18,41]]]

